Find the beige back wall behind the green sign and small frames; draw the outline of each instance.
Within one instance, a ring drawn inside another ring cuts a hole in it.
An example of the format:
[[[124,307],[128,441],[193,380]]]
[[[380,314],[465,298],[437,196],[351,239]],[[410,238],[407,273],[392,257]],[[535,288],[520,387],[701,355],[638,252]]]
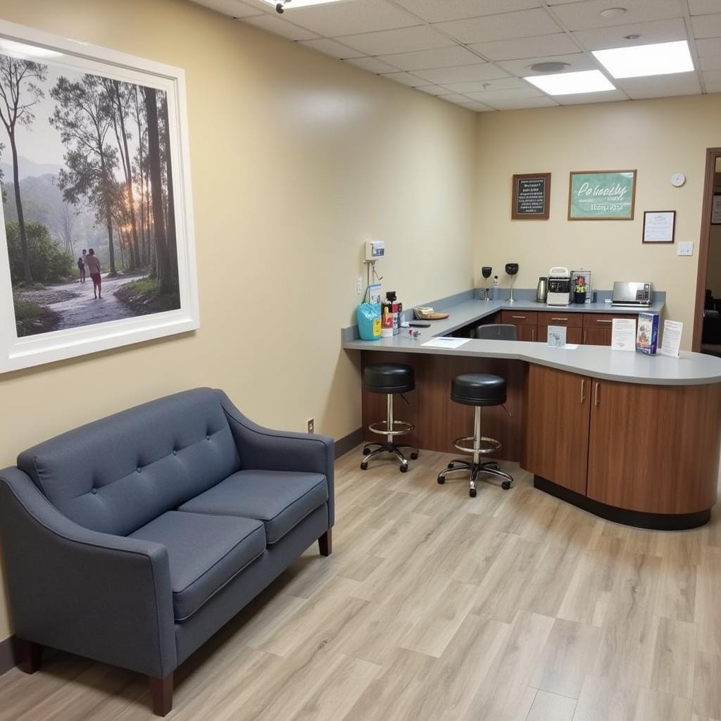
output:
[[[652,280],[691,348],[704,164],[720,117],[721,95],[480,113],[476,284],[492,265],[508,286],[506,262],[521,265],[518,288],[535,288],[553,265],[590,270],[594,288]],[[571,170],[634,168],[633,221],[567,221]],[[510,220],[511,178],[527,172],[552,173],[548,221]],[[673,187],[673,172],[686,185]],[[643,211],[663,210],[676,211],[676,242],[693,241],[693,257],[678,257],[676,244],[642,244]]]

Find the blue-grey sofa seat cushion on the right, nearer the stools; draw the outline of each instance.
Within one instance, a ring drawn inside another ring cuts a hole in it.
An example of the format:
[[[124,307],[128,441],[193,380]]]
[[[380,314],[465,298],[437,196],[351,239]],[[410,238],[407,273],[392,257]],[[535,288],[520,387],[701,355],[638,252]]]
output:
[[[319,473],[239,471],[178,510],[257,518],[274,544],[327,500],[328,484]]]

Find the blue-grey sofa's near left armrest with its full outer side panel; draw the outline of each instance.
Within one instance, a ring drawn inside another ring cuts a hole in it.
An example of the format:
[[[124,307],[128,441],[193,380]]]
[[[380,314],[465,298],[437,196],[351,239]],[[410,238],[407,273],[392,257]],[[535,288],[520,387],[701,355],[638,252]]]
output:
[[[90,531],[17,468],[0,471],[17,637],[164,678],[177,666],[167,549]]]

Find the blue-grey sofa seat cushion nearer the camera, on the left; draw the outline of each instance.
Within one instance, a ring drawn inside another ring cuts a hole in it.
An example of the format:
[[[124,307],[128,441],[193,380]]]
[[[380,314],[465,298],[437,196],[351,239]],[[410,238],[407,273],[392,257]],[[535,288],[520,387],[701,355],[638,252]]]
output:
[[[260,521],[238,516],[163,513],[131,538],[168,549],[175,619],[198,611],[218,590],[265,552]]]

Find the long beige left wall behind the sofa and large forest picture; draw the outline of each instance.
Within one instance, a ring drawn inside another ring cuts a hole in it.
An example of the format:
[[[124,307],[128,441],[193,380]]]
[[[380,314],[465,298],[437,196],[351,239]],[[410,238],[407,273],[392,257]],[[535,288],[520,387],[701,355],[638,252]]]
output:
[[[181,1],[3,0],[0,17],[185,68],[201,316],[193,335],[0,376],[0,467],[201,384],[260,423],[358,428],[340,327],[361,245],[386,241],[384,286],[408,304],[471,286],[474,115]]]

